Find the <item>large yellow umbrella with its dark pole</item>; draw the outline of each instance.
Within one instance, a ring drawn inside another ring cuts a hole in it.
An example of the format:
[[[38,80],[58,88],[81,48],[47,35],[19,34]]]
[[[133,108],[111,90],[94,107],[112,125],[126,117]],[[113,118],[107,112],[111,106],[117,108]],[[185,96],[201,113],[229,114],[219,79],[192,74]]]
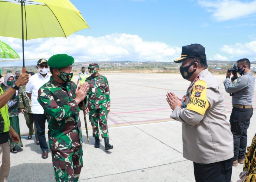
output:
[[[67,37],[89,28],[69,0],[0,0],[0,36],[24,39]]]

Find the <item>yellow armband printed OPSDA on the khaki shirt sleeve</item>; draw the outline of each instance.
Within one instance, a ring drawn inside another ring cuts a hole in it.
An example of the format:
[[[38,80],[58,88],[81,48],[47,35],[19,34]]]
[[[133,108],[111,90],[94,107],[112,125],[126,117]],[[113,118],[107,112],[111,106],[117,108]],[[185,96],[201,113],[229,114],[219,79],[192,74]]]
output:
[[[209,108],[209,102],[206,97],[207,84],[204,80],[198,80],[191,93],[187,109],[195,111],[201,115],[204,115],[205,111]]]

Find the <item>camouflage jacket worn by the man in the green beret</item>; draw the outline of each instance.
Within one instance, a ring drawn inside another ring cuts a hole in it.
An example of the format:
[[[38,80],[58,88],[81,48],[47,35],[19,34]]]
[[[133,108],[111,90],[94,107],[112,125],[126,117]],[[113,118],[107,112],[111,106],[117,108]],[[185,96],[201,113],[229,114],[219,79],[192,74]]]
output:
[[[38,90],[38,102],[48,121],[48,138],[51,150],[63,150],[82,145],[79,107],[74,101],[74,82],[57,83],[50,80]]]

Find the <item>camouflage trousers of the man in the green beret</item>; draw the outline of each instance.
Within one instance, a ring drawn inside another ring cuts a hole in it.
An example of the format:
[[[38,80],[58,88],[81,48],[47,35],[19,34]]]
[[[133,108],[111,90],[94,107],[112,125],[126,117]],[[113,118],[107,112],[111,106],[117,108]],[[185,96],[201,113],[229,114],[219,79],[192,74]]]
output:
[[[65,150],[51,150],[55,180],[77,182],[83,167],[82,145]]]

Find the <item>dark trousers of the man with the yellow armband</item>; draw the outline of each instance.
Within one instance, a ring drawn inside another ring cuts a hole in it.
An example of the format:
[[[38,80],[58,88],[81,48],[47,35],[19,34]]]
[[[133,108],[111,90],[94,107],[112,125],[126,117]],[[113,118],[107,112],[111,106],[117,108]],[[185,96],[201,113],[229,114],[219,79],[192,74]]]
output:
[[[199,164],[194,162],[196,182],[230,182],[232,164],[232,158],[211,164]]]

